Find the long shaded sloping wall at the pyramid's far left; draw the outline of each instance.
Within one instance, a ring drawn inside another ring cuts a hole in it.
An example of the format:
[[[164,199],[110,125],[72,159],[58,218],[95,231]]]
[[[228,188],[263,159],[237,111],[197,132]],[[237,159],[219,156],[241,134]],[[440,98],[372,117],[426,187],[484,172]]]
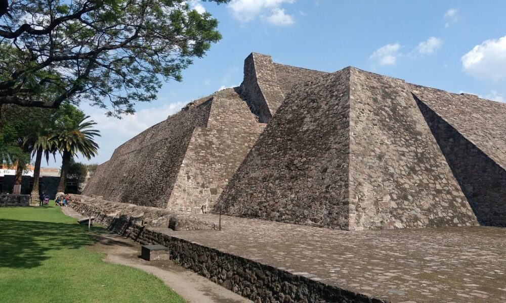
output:
[[[210,104],[210,99],[191,104],[119,146],[83,194],[165,208],[193,129],[206,125]]]

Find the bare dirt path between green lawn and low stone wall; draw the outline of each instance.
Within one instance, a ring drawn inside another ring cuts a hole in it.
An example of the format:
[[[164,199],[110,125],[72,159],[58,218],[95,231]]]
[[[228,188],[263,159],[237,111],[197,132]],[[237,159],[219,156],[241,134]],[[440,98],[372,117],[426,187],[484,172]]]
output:
[[[62,208],[65,215],[82,218],[70,207]],[[161,279],[187,302],[194,303],[242,303],[250,300],[197,275],[172,261],[145,261],[138,256],[141,245],[116,234],[100,235],[91,247],[94,251],[105,252],[104,261],[135,267]]]

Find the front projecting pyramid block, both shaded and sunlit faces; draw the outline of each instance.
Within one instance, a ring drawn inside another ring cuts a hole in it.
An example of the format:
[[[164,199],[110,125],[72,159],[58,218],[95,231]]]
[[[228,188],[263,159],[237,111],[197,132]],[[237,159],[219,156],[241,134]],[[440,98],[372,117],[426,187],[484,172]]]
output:
[[[355,68],[291,90],[218,207],[350,230],[478,225],[408,85]]]

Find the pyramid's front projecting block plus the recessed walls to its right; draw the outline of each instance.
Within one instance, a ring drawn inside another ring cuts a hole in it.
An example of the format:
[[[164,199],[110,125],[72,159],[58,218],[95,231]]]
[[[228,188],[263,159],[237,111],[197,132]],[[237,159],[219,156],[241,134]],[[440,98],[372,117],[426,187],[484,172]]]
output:
[[[349,67],[286,94],[215,211],[348,230],[505,226],[505,118],[504,104]]]

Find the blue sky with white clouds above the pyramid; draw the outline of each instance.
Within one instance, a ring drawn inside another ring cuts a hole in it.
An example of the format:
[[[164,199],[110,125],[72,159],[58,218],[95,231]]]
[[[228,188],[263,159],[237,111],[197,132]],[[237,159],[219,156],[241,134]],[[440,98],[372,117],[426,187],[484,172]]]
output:
[[[186,103],[239,85],[251,52],[274,62],[334,72],[347,66],[451,92],[506,101],[506,1],[233,0],[228,5],[190,1],[220,21],[223,39],[167,82],[158,100],[137,114],[98,122],[103,163],[114,148],[179,111]],[[59,166],[60,162],[49,166]]]

